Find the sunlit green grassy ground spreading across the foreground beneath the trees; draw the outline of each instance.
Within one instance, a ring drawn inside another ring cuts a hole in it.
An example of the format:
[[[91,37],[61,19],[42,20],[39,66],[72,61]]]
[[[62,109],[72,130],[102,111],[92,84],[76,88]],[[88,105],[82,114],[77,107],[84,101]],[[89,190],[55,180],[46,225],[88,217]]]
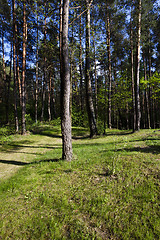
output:
[[[73,135],[71,163],[52,126],[1,144],[23,167],[1,180],[0,239],[160,239],[160,131]]]

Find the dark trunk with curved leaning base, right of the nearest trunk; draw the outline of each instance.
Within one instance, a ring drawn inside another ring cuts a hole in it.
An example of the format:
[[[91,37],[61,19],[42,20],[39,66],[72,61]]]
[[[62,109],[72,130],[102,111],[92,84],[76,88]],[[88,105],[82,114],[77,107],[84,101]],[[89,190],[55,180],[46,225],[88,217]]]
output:
[[[97,134],[96,118],[92,100],[92,86],[90,78],[90,5],[89,0],[86,0],[86,104],[90,127],[90,137]]]

